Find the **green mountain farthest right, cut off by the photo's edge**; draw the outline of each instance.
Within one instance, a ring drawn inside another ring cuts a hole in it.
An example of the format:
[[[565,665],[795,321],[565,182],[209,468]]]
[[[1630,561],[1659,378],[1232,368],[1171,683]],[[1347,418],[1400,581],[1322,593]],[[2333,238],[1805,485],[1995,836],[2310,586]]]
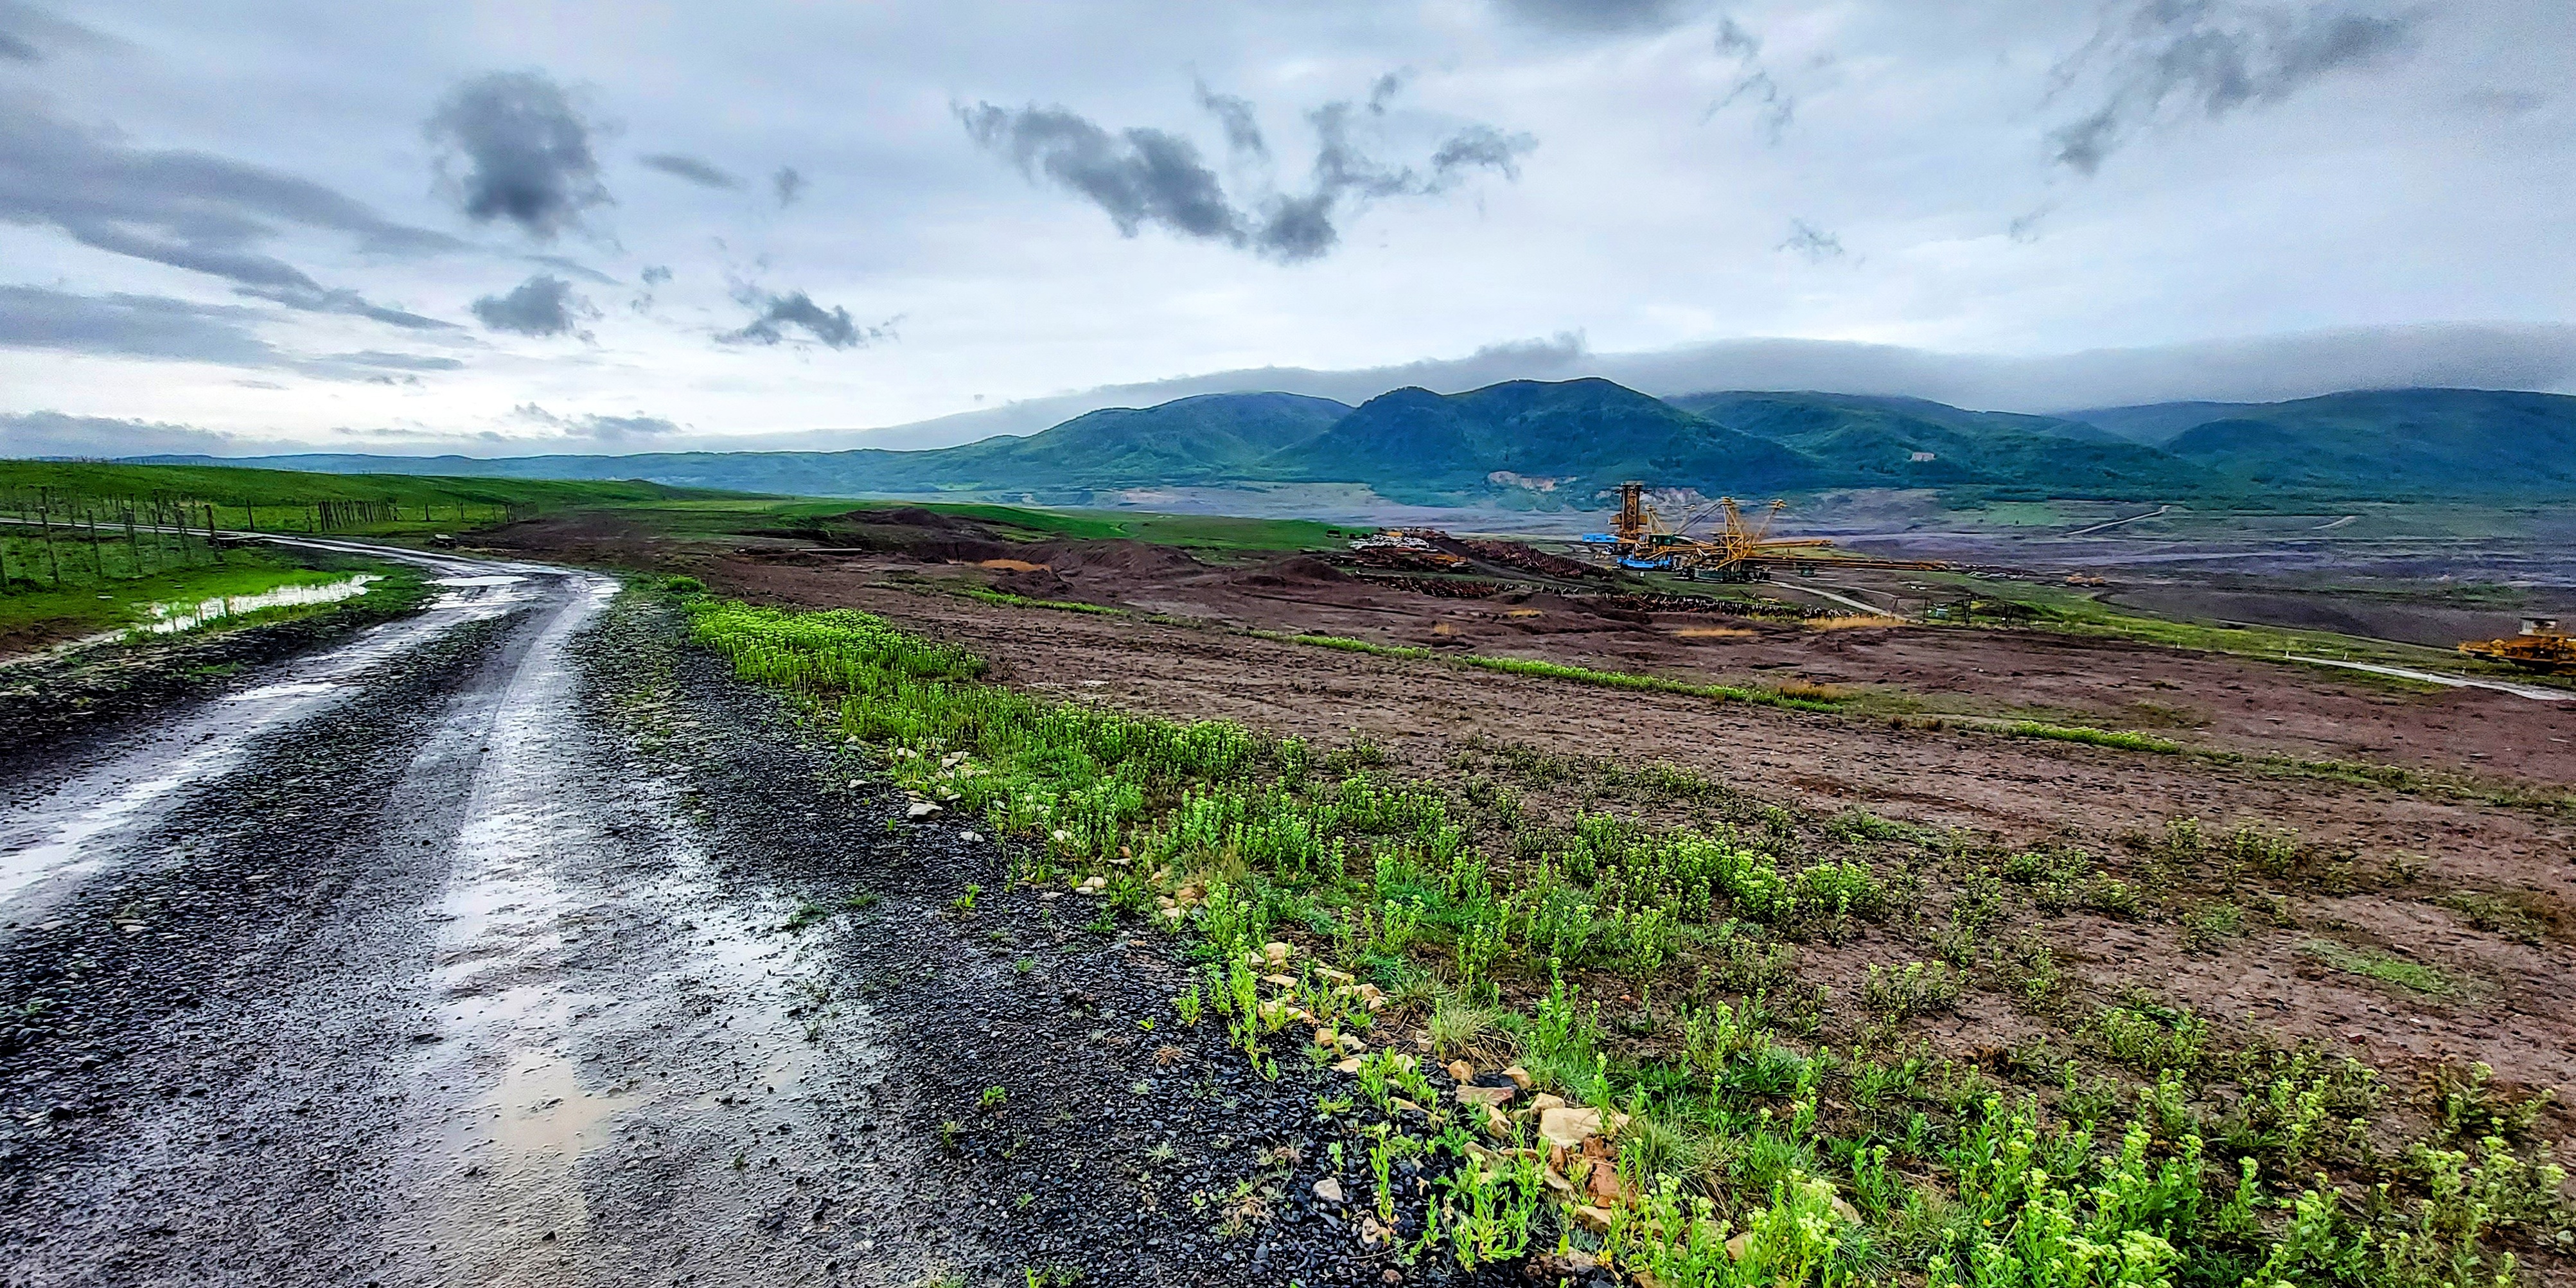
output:
[[[2264,489],[2352,497],[2576,492],[2576,397],[2370,389],[2241,407],[2164,451]]]

